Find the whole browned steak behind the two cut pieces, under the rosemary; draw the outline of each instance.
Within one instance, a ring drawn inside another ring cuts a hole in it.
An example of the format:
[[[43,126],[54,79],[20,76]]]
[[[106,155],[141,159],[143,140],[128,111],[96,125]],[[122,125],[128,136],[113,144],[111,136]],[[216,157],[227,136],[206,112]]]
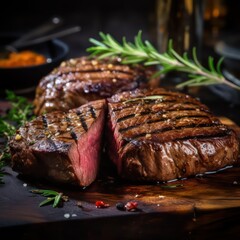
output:
[[[146,87],[155,83],[156,79],[148,81],[152,74],[150,69],[122,65],[117,60],[70,59],[40,81],[34,99],[35,114],[69,110],[117,92]]]

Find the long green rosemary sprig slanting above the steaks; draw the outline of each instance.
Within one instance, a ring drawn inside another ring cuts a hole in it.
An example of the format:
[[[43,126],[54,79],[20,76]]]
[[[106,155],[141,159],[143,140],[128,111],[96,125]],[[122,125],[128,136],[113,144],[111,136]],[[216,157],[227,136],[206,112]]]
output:
[[[149,42],[142,40],[142,32],[139,31],[134,39],[134,43],[127,42],[124,37],[122,44],[116,41],[110,34],[100,32],[101,41],[90,38],[94,45],[87,49],[91,56],[101,58],[116,57],[122,58],[123,64],[144,63],[146,66],[160,65],[161,70],[157,75],[165,74],[171,71],[180,71],[188,74],[189,79],[176,87],[184,86],[203,86],[213,84],[226,84],[232,88],[240,90],[240,87],[228,81],[221,72],[221,58],[216,65],[213,57],[208,58],[208,68],[200,64],[197,58],[196,48],[193,48],[193,59],[189,59],[188,54],[180,56],[174,49],[172,41],[169,41],[168,50],[160,54],[156,48]]]

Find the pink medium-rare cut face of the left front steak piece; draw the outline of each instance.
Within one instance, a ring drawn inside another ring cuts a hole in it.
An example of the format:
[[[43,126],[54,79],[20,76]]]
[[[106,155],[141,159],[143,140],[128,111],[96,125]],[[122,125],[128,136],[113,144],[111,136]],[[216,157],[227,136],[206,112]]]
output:
[[[69,151],[69,158],[81,186],[90,185],[97,176],[100,147],[101,132],[103,129],[104,114],[92,124],[88,131],[82,134]]]

